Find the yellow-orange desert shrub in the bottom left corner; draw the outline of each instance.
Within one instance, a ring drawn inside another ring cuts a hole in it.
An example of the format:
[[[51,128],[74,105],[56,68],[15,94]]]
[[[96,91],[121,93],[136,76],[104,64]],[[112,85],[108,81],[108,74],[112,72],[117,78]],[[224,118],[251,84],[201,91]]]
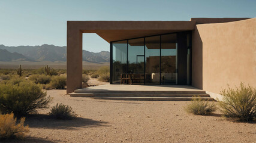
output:
[[[8,138],[23,139],[25,133],[29,131],[28,126],[24,126],[25,118],[22,117],[20,122],[11,114],[0,114],[0,140]],[[17,124],[16,124],[17,123]]]

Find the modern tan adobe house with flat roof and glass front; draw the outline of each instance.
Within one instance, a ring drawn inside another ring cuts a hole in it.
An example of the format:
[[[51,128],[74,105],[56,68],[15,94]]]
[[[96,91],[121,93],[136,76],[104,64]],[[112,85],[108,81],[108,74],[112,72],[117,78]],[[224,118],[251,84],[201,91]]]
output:
[[[110,84],[191,85],[217,97],[256,86],[256,18],[190,21],[67,21],[67,94],[82,88],[82,33],[110,43]]]

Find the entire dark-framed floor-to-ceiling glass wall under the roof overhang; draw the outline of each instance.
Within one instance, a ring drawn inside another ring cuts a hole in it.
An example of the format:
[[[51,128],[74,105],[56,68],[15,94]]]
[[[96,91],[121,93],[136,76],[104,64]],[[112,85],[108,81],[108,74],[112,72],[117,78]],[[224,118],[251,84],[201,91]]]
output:
[[[191,85],[191,32],[177,32],[110,44],[110,83],[121,74],[132,84]]]

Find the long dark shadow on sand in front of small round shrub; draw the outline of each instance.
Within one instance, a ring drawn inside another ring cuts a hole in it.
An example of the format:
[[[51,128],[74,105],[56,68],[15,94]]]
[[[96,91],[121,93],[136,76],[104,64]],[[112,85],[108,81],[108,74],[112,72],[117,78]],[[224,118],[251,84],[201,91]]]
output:
[[[26,117],[26,125],[29,128],[46,129],[76,129],[76,128],[94,128],[97,126],[106,126],[107,122],[76,117],[73,120],[56,120],[46,114],[34,114]]]

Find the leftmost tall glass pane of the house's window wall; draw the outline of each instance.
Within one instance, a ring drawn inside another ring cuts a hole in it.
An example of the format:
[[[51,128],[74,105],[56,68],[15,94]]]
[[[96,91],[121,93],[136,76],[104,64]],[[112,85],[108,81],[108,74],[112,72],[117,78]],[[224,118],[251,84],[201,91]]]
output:
[[[112,43],[112,83],[120,83],[121,74],[127,73],[127,40]]]

